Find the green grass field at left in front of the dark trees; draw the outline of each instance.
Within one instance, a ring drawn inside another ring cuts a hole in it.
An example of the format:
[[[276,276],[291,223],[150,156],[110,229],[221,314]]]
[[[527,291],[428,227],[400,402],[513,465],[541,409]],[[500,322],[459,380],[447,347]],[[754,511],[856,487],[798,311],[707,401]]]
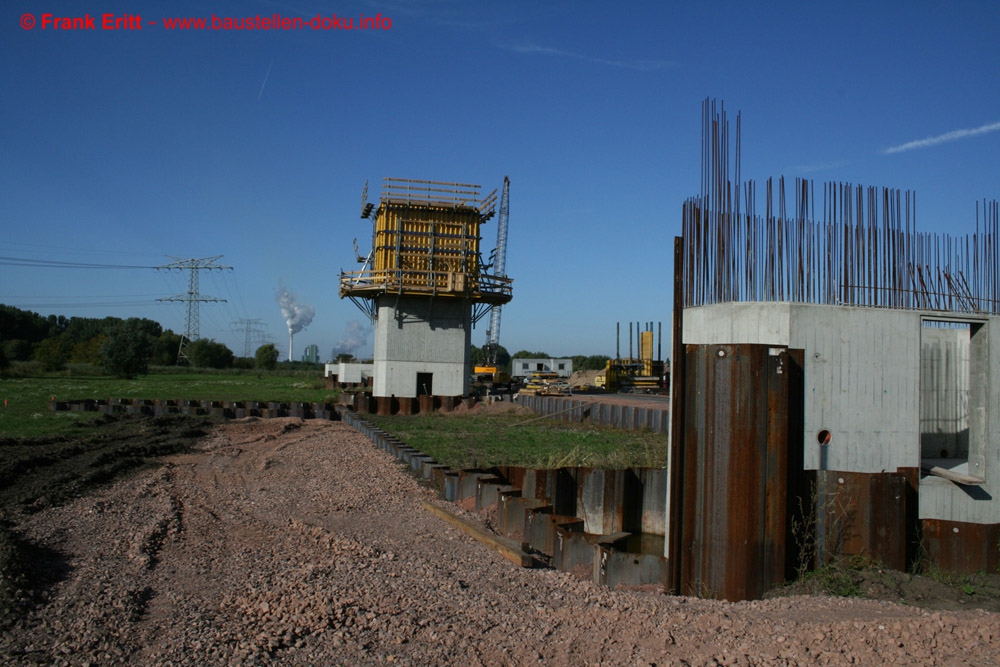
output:
[[[0,377],[0,435],[37,437],[66,433],[81,421],[93,421],[92,412],[52,412],[56,400],[108,398],[212,399],[218,401],[335,401],[337,391],[312,371],[197,371],[156,369],[134,380],[99,375],[91,367],[71,367],[51,374],[29,374],[32,367],[15,368]]]

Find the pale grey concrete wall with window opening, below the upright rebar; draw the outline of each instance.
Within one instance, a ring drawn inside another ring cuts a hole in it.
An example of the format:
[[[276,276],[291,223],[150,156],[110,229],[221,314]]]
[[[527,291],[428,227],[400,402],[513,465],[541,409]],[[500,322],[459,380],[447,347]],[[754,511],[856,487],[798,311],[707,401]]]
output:
[[[973,322],[969,466],[986,483],[922,476],[920,518],[1000,522],[1000,317],[792,303],[726,303],[684,310],[686,344],[761,343],[805,351],[807,470],[894,472],[921,466],[922,339],[927,319]],[[924,381],[928,381],[925,364]],[[925,408],[926,409],[926,408]],[[820,444],[827,438],[829,444]],[[925,462],[926,463],[926,462]],[[996,499],[996,500],[994,500]]]

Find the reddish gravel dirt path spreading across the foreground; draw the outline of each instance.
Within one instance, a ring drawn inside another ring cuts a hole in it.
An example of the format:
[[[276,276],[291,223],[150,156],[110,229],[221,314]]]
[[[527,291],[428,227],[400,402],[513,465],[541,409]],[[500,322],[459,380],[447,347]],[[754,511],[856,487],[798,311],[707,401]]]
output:
[[[52,580],[0,662],[1000,662],[1000,615],[983,611],[730,604],[517,568],[421,509],[434,494],[340,423],[231,423],[200,449],[25,518]]]

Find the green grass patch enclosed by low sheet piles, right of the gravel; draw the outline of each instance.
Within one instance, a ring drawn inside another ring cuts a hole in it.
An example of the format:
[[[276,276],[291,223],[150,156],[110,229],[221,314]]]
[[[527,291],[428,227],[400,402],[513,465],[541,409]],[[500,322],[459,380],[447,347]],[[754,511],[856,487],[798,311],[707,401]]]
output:
[[[661,468],[667,460],[664,434],[533,419],[523,413],[364,417],[452,468]]]

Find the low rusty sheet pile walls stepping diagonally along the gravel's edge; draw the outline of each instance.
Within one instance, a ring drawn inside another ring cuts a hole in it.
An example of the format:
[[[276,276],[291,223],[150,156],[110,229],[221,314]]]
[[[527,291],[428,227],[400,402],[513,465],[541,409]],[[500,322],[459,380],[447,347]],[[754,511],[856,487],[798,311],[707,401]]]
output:
[[[497,529],[553,567],[614,587],[666,585],[663,528],[666,471],[500,467],[453,470],[342,409],[341,418],[378,446],[422,472],[451,502],[496,505]]]

